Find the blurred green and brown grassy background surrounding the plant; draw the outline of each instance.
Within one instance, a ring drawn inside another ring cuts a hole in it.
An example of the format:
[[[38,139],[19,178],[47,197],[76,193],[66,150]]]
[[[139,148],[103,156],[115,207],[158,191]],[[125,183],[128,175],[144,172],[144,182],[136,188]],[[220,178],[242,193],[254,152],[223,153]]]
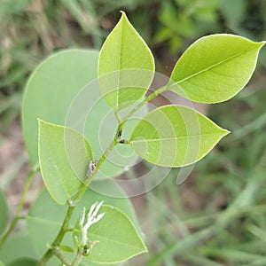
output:
[[[20,130],[22,93],[35,66],[60,49],[99,50],[121,10],[164,74],[200,36],[266,40],[265,0],[0,0],[0,146],[6,132]],[[125,265],[266,265],[265,103],[264,48],[246,89],[207,109],[231,135],[183,184],[176,185],[173,169],[156,189],[133,199],[145,214],[139,218],[150,252]],[[2,184],[12,185],[22,167],[21,156],[14,159]]]

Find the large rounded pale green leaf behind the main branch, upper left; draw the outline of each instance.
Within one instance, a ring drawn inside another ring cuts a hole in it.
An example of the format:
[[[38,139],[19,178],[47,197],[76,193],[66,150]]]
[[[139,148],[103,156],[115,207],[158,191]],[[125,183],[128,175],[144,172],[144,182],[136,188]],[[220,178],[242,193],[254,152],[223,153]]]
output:
[[[32,166],[38,161],[38,118],[79,131],[89,139],[95,159],[113,141],[117,121],[100,93],[97,62],[98,51],[60,51],[45,59],[31,75],[24,94],[22,126]],[[140,117],[147,113],[144,107]],[[127,122],[123,137],[129,137],[135,126],[135,122]],[[117,146],[110,157],[97,179],[120,175],[138,158],[126,145]]]

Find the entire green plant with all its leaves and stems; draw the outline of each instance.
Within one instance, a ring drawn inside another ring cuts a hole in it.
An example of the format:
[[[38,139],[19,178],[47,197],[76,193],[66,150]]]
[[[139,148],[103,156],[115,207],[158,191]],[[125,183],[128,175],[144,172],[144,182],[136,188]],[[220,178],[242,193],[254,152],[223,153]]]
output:
[[[27,82],[22,123],[32,170],[17,214],[2,236],[2,260],[11,264],[6,252],[14,240],[4,242],[21,218],[39,166],[45,189],[26,216],[35,248],[27,260],[92,265],[119,263],[146,252],[134,210],[113,177],[138,156],[163,167],[191,165],[229,131],[187,106],[160,106],[150,113],[145,106],[166,90],[202,103],[232,98],[249,81],[263,44],[237,35],[200,38],[177,61],[170,80],[148,97],[153,55],[125,13],[99,55],[70,50],[45,60]],[[2,196],[0,206],[4,231]]]

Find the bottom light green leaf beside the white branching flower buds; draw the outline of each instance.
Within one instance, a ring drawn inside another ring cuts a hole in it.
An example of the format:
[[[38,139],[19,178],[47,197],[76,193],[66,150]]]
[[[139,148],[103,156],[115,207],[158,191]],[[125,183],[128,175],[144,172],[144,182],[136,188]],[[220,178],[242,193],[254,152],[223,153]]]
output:
[[[98,242],[85,259],[98,263],[122,262],[146,252],[144,242],[127,215],[116,207],[105,205],[99,209],[98,214],[101,213],[105,213],[104,217],[88,231],[89,241]],[[76,231],[80,231],[79,221],[76,223]],[[77,235],[75,231],[74,235]]]

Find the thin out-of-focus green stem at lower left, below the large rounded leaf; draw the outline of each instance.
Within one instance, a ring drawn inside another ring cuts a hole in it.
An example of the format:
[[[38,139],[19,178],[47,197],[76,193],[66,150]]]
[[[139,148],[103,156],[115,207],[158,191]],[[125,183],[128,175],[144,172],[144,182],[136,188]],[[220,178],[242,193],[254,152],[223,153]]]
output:
[[[27,196],[27,192],[29,190],[29,187],[30,187],[30,184],[32,183],[32,180],[33,180],[33,177],[34,177],[34,174],[35,172],[38,170],[39,168],[39,164],[37,163],[35,165],[34,168],[32,168],[28,175],[27,175],[27,180],[26,180],[26,184],[24,185],[24,188],[23,188],[23,191],[21,192],[21,196],[20,196],[20,202],[19,202],[19,205],[17,207],[17,211],[16,211],[16,214],[14,215],[13,219],[12,219],[12,222],[9,224],[9,226],[7,227],[6,231],[4,232],[4,235],[2,236],[2,238],[0,239],[0,247],[3,246],[5,240],[9,237],[9,235],[12,233],[12,230],[14,229],[14,227],[16,226],[16,224],[18,223],[18,221],[20,220],[21,218],[21,211],[22,211],[22,208],[24,206],[24,203],[25,203],[25,199],[26,199],[26,196]]]

